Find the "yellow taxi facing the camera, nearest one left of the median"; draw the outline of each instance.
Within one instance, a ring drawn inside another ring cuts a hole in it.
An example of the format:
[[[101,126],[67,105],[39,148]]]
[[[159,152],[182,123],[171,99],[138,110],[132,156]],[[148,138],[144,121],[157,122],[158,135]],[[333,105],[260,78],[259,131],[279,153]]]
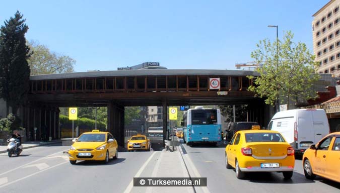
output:
[[[73,141],[69,150],[71,164],[76,164],[77,160],[98,160],[107,163],[110,157],[118,158],[117,140],[109,132],[92,130]]]

